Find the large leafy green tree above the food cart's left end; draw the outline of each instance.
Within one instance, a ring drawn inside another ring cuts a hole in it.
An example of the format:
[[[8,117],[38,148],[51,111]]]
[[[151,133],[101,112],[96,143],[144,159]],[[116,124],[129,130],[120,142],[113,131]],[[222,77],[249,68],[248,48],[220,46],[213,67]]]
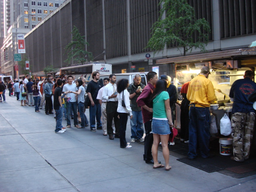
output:
[[[192,48],[206,52],[209,23],[204,18],[196,19],[194,8],[186,0],[160,0],[161,4],[160,16],[152,26],[152,38],[146,48],[151,48],[156,54],[166,44],[172,43],[178,45],[178,50],[183,48],[183,56]],[[166,18],[161,19],[164,14]],[[196,39],[194,34],[198,34]]]

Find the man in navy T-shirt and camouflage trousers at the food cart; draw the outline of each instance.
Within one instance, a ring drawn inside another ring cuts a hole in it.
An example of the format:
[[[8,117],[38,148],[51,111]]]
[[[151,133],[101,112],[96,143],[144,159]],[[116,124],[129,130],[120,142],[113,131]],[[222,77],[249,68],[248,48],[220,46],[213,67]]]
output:
[[[256,91],[253,77],[254,72],[247,70],[244,79],[236,80],[229,93],[230,100],[234,101],[231,120],[234,157],[231,159],[237,162],[249,158],[255,120],[253,103],[248,100],[248,96]]]

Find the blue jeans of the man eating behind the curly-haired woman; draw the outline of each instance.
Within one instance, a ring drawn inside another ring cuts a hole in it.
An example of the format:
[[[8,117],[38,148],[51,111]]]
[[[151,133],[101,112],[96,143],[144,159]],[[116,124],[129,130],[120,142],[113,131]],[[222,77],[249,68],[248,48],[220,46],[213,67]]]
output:
[[[132,111],[132,118],[130,119],[131,124],[131,138],[140,139],[144,134],[143,130],[143,121],[142,121],[142,112],[141,111]]]

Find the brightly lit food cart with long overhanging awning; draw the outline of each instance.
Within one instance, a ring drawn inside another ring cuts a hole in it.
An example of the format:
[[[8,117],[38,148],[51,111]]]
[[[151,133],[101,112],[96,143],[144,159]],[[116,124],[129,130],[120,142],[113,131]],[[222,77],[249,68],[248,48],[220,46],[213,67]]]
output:
[[[199,74],[202,66],[208,66],[211,72],[208,79],[212,81],[216,97],[218,98],[219,105],[217,110],[231,112],[232,104],[230,104],[230,98],[228,97],[230,88],[235,80],[243,78],[246,70],[255,71],[256,48],[166,58],[157,60],[156,64],[172,64],[175,66],[176,82],[184,83],[191,80],[190,76],[192,74]],[[176,122],[174,125],[178,129],[180,129],[180,103],[181,101],[178,100],[176,104]],[[222,113],[223,115],[224,113]],[[218,118],[221,118],[221,115]],[[216,124],[218,126],[218,122]],[[252,148],[256,148],[255,137],[254,134]]]

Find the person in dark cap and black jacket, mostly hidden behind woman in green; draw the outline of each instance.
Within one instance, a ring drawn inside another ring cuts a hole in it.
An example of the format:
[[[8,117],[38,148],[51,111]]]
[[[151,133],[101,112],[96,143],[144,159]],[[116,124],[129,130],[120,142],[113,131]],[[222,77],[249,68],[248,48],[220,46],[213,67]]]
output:
[[[172,111],[172,121],[174,122],[175,119],[175,109],[176,109],[176,101],[178,99],[178,91],[175,85],[171,84],[172,78],[167,75],[161,75],[160,79],[166,80],[167,82],[167,89],[166,92],[168,92],[170,97],[170,108]],[[174,145],[175,142],[170,142],[170,145]]]

